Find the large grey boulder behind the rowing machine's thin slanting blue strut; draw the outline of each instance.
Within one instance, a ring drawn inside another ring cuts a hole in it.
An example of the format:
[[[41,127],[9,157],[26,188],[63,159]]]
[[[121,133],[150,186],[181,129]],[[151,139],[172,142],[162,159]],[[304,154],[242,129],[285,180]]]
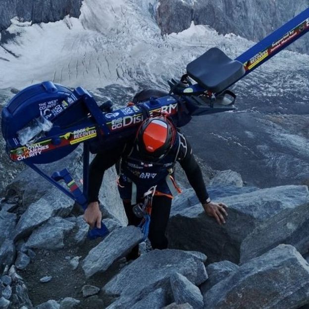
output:
[[[81,179],[81,161],[82,148],[78,147],[57,162],[57,169],[68,168],[74,179]],[[51,175],[54,172],[54,163],[44,164],[44,171]],[[14,231],[15,240],[29,236],[36,227],[51,217],[67,217],[73,208],[71,199],[30,168],[19,173],[6,190],[15,191],[23,202],[22,207],[25,208]]]

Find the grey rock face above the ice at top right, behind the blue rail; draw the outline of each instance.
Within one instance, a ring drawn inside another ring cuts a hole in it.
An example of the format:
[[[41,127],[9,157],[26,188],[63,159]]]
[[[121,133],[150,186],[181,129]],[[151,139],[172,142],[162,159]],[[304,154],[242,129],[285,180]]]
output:
[[[232,32],[259,41],[308,5],[308,0],[297,1],[294,5],[288,0],[160,0],[156,20],[162,34],[181,32],[194,21],[195,24],[209,25],[219,33]],[[309,39],[297,42],[293,49],[308,52]]]

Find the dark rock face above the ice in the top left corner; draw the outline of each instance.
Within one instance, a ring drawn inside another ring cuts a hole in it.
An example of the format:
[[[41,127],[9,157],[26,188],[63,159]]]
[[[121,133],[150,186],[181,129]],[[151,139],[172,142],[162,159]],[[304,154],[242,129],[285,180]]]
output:
[[[17,16],[33,23],[57,21],[66,15],[78,17],[82,0],[3,0],[0,6],[0,31]]]

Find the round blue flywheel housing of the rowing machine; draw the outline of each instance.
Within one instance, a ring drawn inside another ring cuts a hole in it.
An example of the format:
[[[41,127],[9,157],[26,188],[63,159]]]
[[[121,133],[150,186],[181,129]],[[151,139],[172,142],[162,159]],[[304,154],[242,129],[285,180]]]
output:
[[[76,103],[70,104],[73,101],[76,101]],[[61,112],[59,116],[54,117],[51,111],[56,110],[57,107],[62,110],[66,108],[66,110]],[[57,134],[77,119],[85,117],[87,113],[87,109],[82,104],[82,98],[76,91],[71,91],[69,88],[49,81],[27,87],[15,95],[2,109],[1,129],[6,141],[6,150],[9,152],[17,147],[27,147],[27,143],[22,142],[23,138],[20,136],[20,132],[28,129],[28,133],[31,133],[31,125],[35,121],[40,124],[38,119],[44,119],[44,121],[50,119],[48,121],[50,127],[43,134],[44,138],[51,137],[51,142],[56,145],[57,139],[55,137]],[[27,135],[27,132],[24,134]],[[40,137],[43,136],[37,136],[36,140],[40,139]],[[33,145],[36,140],[32,140],[29,144]],[[26,160],[34,164],[50,163],[70,154],[77,146],[78,144],[67,145],[56,152],[29,156]],[[31,146],[29,148],[31,152]]]

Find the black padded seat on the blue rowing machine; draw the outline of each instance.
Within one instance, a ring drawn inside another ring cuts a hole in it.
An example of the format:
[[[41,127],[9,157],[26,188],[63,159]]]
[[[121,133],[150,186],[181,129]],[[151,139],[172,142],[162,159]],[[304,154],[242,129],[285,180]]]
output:
[[[243,64],[211,48],[187,65],[188,75],[213,93],[220,93],[245,74]]]

